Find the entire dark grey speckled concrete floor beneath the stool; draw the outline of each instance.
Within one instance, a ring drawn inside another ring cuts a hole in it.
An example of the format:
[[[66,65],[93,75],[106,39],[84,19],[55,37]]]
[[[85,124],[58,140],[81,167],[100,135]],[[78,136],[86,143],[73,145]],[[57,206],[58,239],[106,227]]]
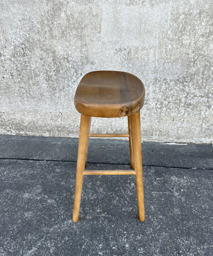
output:
[[[142,143],[145,222],[133,175],[84,177],[78,140],[0,135],[1,255],[212,255],[213,146]],[[88,169],[129,169],[129,143],[91,139]]]

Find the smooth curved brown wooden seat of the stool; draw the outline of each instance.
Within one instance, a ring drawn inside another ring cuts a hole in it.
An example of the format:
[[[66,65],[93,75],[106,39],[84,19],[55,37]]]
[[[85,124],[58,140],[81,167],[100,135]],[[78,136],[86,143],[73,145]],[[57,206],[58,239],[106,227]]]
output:
[[[93,71],[84,75],[75,93],[75,107],[83,115],[120,117],[137,113],[145,89],[140,79],[120,71]]]

